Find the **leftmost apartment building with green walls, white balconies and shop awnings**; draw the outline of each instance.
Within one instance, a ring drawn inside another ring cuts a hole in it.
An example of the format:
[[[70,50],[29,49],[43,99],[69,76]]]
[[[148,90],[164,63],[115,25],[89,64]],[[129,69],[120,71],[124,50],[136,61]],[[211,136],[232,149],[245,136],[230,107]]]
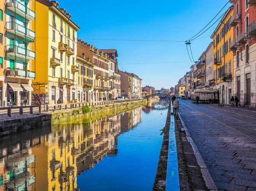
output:
[[[25,98],[31,104],[31,83],[35,79],[34,5],[22,0],[6,0],[0,5],[0,106],[20,105]]]

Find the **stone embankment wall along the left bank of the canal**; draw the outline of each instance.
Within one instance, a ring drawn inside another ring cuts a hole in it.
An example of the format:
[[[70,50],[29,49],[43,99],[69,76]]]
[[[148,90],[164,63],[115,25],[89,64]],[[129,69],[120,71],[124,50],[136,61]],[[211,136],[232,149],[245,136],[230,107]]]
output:
[[[102,117],[128,111],[133,108],[143,106],[148,102],[155,102],[157,100],[159,100],[159,98],[115,103],[111,105],[93,105],[86,111],[83,111],[82,108],[74,108],[64,111],[47,112],[44,114],[20,115],[15,117],[15,119],[8,119],[8,117],[6,117],[6,119],[0,120],[0,137],[21,131],[27,131],[33,128],[41,128],[51,124],[63,123],[69,120],[79,120],[81,118],[88,121],[97,120]]]

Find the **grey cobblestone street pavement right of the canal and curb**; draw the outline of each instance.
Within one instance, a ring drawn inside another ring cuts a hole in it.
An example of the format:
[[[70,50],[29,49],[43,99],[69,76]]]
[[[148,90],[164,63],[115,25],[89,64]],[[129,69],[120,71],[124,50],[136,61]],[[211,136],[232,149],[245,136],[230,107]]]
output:
[[[218,189],[256,191],[256,111],[179,101],[179,112]]]

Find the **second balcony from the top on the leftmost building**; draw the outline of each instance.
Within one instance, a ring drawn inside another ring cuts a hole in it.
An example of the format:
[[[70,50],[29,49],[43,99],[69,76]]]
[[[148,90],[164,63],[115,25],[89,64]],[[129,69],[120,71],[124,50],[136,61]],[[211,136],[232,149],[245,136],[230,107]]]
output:
[[[35,40],[35,32],[30,29],[26,29],[24,26],[19,25],[18,23],[7,22],[6,29],[8,32],[14,35],[17,35],[19,37],[23,37],[23,38],[26,37],[31,39],[32,41]]]

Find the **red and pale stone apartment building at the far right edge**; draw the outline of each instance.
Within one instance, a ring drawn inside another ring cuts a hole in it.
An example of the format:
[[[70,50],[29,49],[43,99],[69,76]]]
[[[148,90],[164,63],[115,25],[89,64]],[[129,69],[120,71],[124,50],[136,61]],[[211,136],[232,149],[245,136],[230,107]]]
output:
[[[241,106],[256,108],[256,1],[230,0],[234,3],[234,14],[230,20],[234,39],[230,43],[233,51],[233,95]]]

